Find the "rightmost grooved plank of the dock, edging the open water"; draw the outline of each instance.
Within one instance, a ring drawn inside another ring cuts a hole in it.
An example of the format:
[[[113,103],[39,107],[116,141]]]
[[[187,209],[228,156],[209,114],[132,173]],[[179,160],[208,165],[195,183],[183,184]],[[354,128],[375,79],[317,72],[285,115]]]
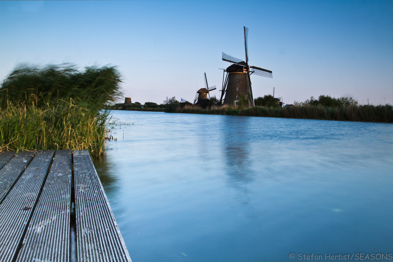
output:
[[[88,150],[73,150],[78,261],[131,262]]]

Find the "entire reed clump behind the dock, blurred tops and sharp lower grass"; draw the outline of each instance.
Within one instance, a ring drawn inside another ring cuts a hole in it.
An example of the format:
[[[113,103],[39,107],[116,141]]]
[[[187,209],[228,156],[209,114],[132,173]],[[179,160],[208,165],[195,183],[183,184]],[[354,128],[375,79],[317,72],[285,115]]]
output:
[[[0,88],[0,151],[105,150],[108,103],[121,97],[114,66],[20,64]]]

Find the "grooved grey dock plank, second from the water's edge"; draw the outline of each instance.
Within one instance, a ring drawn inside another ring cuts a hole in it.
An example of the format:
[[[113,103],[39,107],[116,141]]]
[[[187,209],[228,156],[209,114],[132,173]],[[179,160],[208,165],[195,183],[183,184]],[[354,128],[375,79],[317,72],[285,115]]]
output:
[[[70,261],[71,175],[71,150],[57,150],[16,261]]]

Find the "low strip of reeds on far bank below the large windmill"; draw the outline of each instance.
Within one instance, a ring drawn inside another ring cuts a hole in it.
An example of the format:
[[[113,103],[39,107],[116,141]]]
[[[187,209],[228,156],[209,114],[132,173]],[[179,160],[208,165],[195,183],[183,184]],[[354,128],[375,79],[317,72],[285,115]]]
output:
[[[366,121],[366,122],[393,122],[393,107],[386,105],[360,105],[342,107],[323,106],[291,106],[286,108],[267,108],[253,106],[251,108],[218,107],[215,109],[202,109],[198,107],[178,108],[178,113],[186,114],[220,114],[220,115],[247,115],[260,117],[285,117],[304,119],[326,119],[339,121]]]

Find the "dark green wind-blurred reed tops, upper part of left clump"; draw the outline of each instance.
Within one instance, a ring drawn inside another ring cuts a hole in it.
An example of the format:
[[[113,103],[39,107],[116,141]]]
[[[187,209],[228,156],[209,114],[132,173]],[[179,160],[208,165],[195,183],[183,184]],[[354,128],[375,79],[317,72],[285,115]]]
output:
[[[83,108],[103,108],[121,96],[121,74],[115,66],[86,67],[73,64],[19,64],[2,81],[2,101],[34,101],[35,106],[53,106],[73,99]],[[26,103],[30,104],[30,103]]]

